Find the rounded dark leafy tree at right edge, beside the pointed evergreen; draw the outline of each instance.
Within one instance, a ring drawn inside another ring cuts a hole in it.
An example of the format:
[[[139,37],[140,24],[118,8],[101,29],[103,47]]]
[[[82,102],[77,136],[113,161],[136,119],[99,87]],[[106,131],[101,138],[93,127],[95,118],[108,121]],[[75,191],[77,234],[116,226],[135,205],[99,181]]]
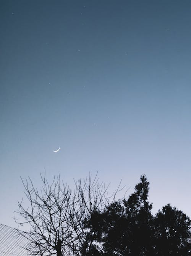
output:
[[[155,255],[189,255],[191,220],[170,204],[163,206],[154,218]]]

